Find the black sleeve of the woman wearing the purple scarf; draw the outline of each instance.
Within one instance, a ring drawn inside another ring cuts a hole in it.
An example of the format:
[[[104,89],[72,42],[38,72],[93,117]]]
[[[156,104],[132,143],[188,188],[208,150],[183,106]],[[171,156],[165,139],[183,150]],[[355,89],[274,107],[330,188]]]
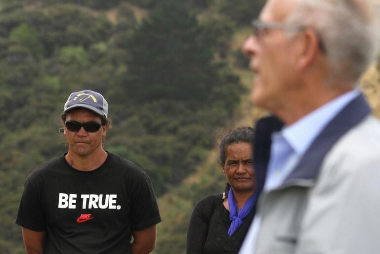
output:
[[[187,229],[186,253],[202,254],[209,231],[209,221],[214,209],[211,196],[200,200],[191,214]]]

